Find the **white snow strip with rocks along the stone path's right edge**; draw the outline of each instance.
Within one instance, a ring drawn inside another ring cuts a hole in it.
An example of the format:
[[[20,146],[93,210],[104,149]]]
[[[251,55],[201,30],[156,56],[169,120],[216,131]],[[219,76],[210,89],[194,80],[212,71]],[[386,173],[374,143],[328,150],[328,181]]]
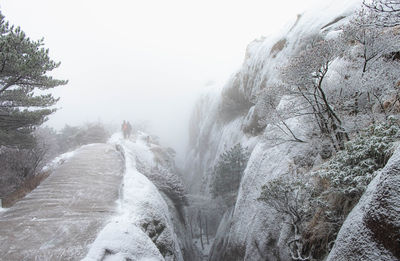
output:
[[[136,158],[149,166],[154,165],[146,138],[141,133],[135,141],[124,140],[117,133],[109,140],[121,146],[125,154],[126,172],[119,214],[99,233],[84,261],[183,260],[166,202],[153,183],[136,169]],[[159,233],[158,237],[145,232],[151,227]],[[170,252],[164,253],[163,257],[157,243],[169,248]]]

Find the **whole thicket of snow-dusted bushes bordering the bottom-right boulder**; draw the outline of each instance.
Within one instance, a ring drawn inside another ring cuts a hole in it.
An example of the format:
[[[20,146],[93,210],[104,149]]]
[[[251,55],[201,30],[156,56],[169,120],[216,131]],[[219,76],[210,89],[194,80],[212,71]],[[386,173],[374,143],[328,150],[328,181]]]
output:
[[[259,200],[292,227],[293,260],[323,260],[329,253],[346,216],[392,155],[399,124],[393,117],[373,124],[311,175],[299,174],[296,164],[291,173],[262,186]]]

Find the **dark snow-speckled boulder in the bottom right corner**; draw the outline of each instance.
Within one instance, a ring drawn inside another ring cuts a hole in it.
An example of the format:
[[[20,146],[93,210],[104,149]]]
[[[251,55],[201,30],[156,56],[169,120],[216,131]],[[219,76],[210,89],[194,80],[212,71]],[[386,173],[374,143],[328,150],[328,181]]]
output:
[[[400,149],[340,229],[327,261],[400,260]]]

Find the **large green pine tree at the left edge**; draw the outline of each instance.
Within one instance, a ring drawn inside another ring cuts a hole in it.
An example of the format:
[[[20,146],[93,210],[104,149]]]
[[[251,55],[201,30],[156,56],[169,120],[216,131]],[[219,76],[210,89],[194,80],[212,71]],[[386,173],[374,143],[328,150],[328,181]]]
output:
[[[50,107],[58,99],[38,93],[67,81],[46,75],[60,63],[43,45],[43,39],[32,41],[0,13],[0,145],[31,145],[35,127],[55,111]]]

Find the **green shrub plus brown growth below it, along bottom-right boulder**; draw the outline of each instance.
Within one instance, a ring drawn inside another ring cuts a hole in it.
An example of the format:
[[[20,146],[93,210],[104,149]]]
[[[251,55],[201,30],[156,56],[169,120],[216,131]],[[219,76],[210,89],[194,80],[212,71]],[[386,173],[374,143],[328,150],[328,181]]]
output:
[[[347,215],[376,171],[383,168],[392,155],[399,130],[399,122],[394,118],[373,124],[347,142],[345,150],[312,173],[316,182],[310,201],[315,209],[302,238],[313,258],[322,260],[330,251]]]

